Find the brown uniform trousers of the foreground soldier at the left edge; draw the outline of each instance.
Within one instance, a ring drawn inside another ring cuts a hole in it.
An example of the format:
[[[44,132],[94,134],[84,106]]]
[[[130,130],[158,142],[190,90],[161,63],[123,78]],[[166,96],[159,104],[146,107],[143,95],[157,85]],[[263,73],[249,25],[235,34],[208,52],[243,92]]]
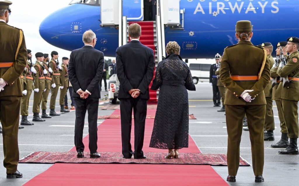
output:
[[[14,173],[19,162],[19,113],[21,97],[3,96],[0,97],[0,119],[3,135],[3,165],[6,173]]]

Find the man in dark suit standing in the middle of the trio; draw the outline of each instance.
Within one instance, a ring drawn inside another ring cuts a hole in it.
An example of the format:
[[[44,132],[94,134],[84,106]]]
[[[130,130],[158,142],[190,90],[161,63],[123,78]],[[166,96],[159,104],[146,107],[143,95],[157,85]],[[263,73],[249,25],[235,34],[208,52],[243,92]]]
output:
[[[116,50],[117,76],[120,82],[121,141],[123,158],[144,159],[145,117],[149,84],[152,80],[155,61],[154,52],[140,43],[141,27],[134,23],[128,27],[131,42]],[[131,147],[132,110],[134,109],[134,153]]]

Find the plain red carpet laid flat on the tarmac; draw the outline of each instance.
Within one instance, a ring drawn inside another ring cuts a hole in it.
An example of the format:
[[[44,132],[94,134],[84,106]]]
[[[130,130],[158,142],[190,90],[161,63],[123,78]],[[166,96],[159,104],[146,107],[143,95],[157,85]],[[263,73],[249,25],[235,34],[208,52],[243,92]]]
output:
[[[115,110],[112,115],[119,115]],[[155,110],[147,110],[155,115]],[[148,152],[164,153],[167,150],[149,148],[154,119],[146,119],[144,135],[144,155]],[[132,126],[133,128],[134,126]],[[98,151],[121,152],[120,119],[107,119],[98,126]],[[134,130],[132,130],[132,136]],[[134,144],[134,137],[131,138]],[[88,152],[88,136],[83,139]],[[134,147],[134,145],[133,145]],[[132,149],[134,150],[134,149]],[[75,147],[71,151],[76,151]],[[189,148],[180,153],[200,153],[189,136]],[[64,164],[57,163],[45,172],[25,183],[25,186],[65,186],[65,185],[228,185],[209,165],[154,165],[154,164]]]

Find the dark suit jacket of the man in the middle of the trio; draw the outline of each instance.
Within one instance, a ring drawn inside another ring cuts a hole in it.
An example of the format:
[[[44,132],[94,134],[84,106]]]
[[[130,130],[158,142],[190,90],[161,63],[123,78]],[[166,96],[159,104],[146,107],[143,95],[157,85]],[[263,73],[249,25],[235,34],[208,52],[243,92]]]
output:
[[[149,84],[155,68],[154,52],[139,41],[116,49],[116,69],[120,82],[118,99],[130,98],[129,90],[140,89],[141,99],[149,99]]]

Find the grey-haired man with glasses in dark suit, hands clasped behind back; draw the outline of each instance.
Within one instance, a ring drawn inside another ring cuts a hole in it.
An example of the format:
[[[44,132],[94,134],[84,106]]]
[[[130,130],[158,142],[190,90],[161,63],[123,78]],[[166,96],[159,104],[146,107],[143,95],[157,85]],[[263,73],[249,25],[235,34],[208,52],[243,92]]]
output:
[[[104,68],[103,52],[94,49],[97,38],[91,30],[83,34],[84,47],[73,50],[68,64],[68,77],[73,85],[76,107],[75,146],[77,158],[84,157],[83,128],[88,112],[90,158],[99,158],[97,153],[97,113],[100,98],[100,79]]]

